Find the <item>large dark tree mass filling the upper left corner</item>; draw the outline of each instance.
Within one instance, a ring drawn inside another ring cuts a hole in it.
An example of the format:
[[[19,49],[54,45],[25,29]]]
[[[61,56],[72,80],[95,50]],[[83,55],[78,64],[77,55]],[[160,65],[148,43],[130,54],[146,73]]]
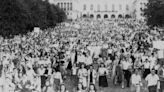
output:
[[[65,12],[48,0],[1,0],[0,35],[26,34],[34,27],[54,27],[66,19]]]

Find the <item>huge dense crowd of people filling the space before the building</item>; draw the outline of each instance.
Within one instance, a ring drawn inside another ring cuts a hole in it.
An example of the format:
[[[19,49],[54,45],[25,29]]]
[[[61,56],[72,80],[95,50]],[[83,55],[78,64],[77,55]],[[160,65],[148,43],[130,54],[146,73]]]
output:
[[[130,92],[164,92],[164,61],[153,47],[163,37],[132,19],[77,19],[0,37],[0,92],[71,92],[69,77],[73,92],[101,92],[109,79]]]

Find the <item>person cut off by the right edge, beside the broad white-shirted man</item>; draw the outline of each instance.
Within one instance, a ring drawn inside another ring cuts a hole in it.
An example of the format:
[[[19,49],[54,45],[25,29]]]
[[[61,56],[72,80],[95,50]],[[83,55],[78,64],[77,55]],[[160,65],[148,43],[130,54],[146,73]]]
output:
[[[164,92],[164,64],[158,70],[158,76],[160,81],[160,90],[159,92]]]

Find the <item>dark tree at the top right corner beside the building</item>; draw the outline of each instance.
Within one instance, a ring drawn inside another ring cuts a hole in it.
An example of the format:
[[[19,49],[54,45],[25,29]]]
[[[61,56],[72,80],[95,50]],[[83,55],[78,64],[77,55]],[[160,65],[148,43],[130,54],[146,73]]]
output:
[[[144,16],[149,26],[164,27],[164,0],[148,0]]]

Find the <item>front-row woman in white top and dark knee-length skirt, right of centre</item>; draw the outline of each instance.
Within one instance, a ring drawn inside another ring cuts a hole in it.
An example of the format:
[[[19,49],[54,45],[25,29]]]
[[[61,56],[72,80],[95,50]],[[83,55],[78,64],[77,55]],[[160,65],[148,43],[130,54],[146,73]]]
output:
[[[108,87],[108,81],[107,76],[108,70],[105,68],[104,64],[100,64],[100,67],[98,69],[98,81],[99,81],[99,87]]]

